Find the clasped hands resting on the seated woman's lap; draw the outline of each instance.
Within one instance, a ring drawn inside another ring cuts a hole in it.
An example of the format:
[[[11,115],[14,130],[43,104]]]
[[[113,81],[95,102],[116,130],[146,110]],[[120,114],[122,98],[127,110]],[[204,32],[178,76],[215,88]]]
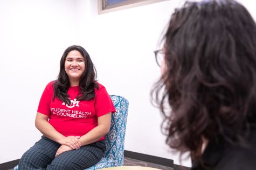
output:
[[[59,147],[59,149],[56,152],[56,157],[66,151],[71,151],[71,150],[78,150],[81,146],[81,143],[79,141],[80,136],[67,136],[67,137],[63,137],[63,139],[61,139],[60,144],[61,146]]]

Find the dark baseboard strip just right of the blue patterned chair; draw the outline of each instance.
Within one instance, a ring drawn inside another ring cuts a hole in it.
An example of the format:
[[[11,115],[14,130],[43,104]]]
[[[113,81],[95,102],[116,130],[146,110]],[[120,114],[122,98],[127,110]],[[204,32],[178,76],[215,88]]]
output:
[[[174,160],[172,160],[172,159],[155,157],[155,156],[151,156],[149,154],[137,153],[137,152],[126,151],[126,150],[124,150],[124,157],[137,159],[137,160],[141,160],[141,161],[147,161],[147,162],[151,162],[153,164],[159,164],[159,165],[174,168]]]

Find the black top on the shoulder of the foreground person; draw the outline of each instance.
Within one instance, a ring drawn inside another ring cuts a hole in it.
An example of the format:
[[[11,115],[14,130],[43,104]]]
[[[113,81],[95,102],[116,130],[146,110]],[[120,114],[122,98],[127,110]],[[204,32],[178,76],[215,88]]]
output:
[[[256,130],[251,130],[247,139],[248,146],[212,140],[206,146],[202,156],[205,166],[200,161],[192,162],[191,170],[256,170]],[[207,168],[206,168],[207,167]]]

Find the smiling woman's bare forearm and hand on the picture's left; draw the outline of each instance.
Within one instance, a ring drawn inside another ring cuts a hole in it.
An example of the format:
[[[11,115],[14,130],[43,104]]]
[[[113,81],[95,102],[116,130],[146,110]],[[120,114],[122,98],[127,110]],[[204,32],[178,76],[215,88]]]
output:
[[[52,125],[48,122],[49,116],[37,112],[36,116],[36,128],[47,138],[52,141],[58,142],[61,145],[70,146],[72,149],[79,149],[81,143],[79,142],[80,137],[75,136],[63,136]]]

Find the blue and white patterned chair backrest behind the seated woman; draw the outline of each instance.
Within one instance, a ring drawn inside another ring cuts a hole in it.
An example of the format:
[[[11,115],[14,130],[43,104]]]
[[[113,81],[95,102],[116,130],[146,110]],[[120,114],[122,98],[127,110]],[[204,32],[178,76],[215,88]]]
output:
[[[104,157],[107,161],[109,159],[116,160],[118,166],[122,166],[129,102],[127,99],[117,95],[110,95],[110,98],[113,101],[116,112],[112,114],[110,131],[105,138],[106,152]]]

